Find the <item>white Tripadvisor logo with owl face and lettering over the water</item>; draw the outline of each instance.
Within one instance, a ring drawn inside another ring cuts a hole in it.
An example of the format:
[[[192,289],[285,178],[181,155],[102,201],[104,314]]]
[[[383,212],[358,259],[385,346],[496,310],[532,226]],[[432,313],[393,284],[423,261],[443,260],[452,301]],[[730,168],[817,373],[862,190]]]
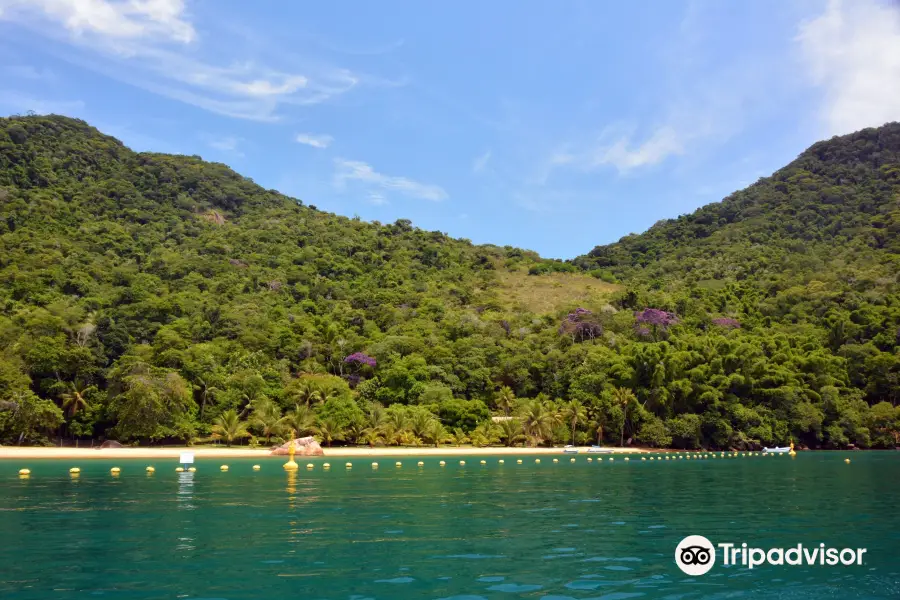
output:
[[[720,543],[713,545],[702,535],[689,535],[675,547],[675,564],[685,574],[693,577],[705,575],[716,564],[716,547],[722,549],[722,564],[741,565],[752,569],[769,565],[861,565],[865,548],[826,548],[819,544],[811,548],[797,544],[790,548],[748,547],[746,543]]]

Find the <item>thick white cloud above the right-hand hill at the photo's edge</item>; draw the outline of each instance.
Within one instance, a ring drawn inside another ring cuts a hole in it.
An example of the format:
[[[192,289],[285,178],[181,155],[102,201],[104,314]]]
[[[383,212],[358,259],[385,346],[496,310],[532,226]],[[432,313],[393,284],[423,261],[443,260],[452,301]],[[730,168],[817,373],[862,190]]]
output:
[[[900,10],[874,0],[831,0],[800,25],[801,56],[825,94],[827,135],[900,120]]]

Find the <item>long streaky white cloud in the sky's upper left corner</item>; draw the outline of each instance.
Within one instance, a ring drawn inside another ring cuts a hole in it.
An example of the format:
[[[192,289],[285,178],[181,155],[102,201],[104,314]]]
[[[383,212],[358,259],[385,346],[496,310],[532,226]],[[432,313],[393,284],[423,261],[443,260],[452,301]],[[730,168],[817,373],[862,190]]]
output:
[[[275,121],[283,106],[318,104],[359,81],[345,69],[310,63],[297,72],[233,56],[221,38],[201,39],[182,0],[0,0],[0,19],[65,60],[242,119]]]

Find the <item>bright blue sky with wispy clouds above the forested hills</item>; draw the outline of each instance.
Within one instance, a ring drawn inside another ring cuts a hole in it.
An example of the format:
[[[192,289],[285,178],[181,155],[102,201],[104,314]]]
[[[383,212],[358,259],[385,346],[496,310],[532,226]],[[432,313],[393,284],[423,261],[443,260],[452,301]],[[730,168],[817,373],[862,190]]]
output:
[[[889,0],[0,0],[0,113],[570,258],[900,120]]]

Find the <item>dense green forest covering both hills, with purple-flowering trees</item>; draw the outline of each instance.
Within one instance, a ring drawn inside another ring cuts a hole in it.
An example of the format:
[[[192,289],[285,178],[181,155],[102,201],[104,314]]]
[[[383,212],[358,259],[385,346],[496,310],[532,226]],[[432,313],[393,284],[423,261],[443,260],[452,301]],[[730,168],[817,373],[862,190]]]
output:
[[[898,234],[900,124],[562,262],[0,119],[0,443],[895,447]]]

